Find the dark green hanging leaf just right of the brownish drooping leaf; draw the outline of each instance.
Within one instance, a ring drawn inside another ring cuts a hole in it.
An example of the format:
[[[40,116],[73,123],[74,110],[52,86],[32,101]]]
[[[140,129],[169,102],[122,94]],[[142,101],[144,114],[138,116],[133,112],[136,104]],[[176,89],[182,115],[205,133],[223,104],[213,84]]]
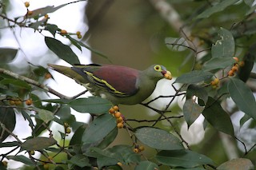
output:
[[[234,128],[229,115],[214,98],[209,97],[206,108],[203,110],[202,114],[214,128],[230,136],[234,136]]]

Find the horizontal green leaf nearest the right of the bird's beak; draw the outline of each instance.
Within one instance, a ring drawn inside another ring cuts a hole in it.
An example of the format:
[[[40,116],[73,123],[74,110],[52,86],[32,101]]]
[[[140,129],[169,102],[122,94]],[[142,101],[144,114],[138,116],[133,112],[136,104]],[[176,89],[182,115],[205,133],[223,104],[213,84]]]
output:
[[[183,83],[183,84],[194,84],[201,81],[206,81],[213,77],[214,74],[210,72],[204,72],[202,70],[194,70],[190,73],[184,73],[182,76],[177,77],[175,83]]]

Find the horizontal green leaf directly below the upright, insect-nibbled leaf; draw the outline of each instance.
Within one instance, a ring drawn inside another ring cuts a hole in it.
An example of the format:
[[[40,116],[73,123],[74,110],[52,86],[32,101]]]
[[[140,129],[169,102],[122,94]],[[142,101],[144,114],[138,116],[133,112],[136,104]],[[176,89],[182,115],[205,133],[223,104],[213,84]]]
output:
[[[225,69],[226,67],[233,65],[235,60],[233,57],[213,57],[210,61],[206,61],[202,65],[202,69],[205,71],[210,71],[214,69]]]

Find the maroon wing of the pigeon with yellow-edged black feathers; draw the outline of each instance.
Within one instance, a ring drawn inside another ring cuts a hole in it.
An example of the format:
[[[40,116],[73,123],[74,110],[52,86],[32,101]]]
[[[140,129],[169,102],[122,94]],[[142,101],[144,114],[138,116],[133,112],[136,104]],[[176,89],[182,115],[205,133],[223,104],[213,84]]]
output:
[[[90,83],[117,97],[128,97],[138,92],[139,71],[117,65],[75,65],[74,71]]]

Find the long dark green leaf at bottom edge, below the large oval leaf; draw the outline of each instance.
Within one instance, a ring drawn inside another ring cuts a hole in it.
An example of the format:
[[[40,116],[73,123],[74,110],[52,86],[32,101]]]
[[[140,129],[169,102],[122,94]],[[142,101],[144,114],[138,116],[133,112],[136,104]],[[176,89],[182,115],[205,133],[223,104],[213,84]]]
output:
[[[209,157],[190,150],[160,151],[155,156],[160,164],[173,167],[194,168],[202,164],[212,164]]]

